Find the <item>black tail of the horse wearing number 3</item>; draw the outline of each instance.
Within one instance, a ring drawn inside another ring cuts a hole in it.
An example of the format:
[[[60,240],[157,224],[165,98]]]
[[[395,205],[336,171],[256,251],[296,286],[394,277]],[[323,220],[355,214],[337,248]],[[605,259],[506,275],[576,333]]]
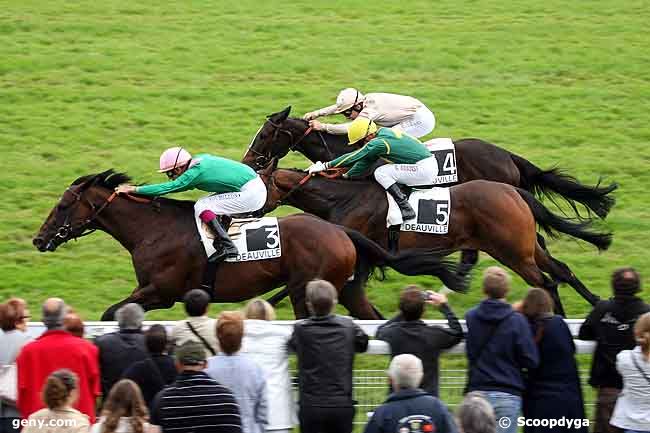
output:
[[[379,268],[380,279],[384,269],[390,267],[404,275],[433,275],[438,277],[447,287],[457,292],[467,290],[466,277],[458,275],[456,264],[442,259],[445,252],[431,249],[410,249],[397,254],[391,254],[381,245],[368,239],[356,230],[341,228],[348,235],[357,250],[356,275],[369,275]]]

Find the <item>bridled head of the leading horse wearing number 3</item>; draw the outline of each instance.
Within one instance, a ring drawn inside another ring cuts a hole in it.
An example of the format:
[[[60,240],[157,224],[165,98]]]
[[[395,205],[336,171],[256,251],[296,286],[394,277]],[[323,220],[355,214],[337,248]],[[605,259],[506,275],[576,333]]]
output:
[[[92,233],[97,229],[96,218],[108,205],[113,188],[129,180],[124,174],[107,170],[72,182],[34,237],[34,246],[41,252],[54,251],[70,239]]]

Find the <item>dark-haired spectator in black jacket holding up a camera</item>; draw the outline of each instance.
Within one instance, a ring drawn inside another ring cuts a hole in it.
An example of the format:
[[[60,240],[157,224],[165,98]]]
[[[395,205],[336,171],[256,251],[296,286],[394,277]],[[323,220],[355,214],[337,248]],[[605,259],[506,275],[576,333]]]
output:
[[[440,308],[449,329],[427,325],[421,319],[425,304]],[[390,345],[391,357],[410,353],[422,361],[424,379],[420,387],[438,396],[438,357],[440,352],[460,343],[463,328],[447,304],[447,297],[417,286],[404,289],[399,300],[400,313],[377,329],[376,338]]]

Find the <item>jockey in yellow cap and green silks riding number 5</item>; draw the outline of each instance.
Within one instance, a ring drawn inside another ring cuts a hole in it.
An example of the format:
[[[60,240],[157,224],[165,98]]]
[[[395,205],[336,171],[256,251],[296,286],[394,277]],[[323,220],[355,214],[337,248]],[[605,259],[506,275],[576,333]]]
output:
[[[435,156],[415,137],[390,128],[378,128],[367,118],[358,117],[348,130],[349,144],[362,141],[364,146],[354,152],[309,167],[309,173],[316,173],[333,167],[350,167],[346,176],[362,174],[379,158],[390,164],[382,165],[374,172],[377,182],[395,199],[404,221],[415,218],[415,211],[408,198],[397,186],[430,185],[438,175]]]

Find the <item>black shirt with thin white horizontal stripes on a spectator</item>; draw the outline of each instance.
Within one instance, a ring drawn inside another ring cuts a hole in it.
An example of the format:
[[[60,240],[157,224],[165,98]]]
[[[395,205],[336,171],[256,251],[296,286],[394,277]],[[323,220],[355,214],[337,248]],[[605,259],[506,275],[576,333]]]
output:
[[[241,433],[232,392],[202,371],[184,371],[158,393],[151,423],[164,433]]]

